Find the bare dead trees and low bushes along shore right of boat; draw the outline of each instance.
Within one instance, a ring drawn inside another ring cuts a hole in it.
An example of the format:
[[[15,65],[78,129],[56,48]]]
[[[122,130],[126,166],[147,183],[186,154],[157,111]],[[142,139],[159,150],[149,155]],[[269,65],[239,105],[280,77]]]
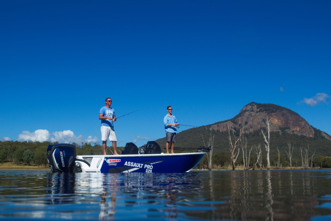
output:
[[[295,145],[292,145],[289,140],[287,141],[287,148],[283,150],[286,153],[285,157],[284,154],[281,153],[282,149],[279,149],[277,146],[276,148],[273,147],[277,149],[277,155],[270,160],[270,121],[271,119],[268,119],[267,116],[265,119],[266,130],[261,130],[266,153],[264,155],[265,157],[262,156],[263,148],[260,144],[254,144],[251,145],[251,147],[248,146],[247,138],[243,135],[245,124],[241,121],[239,128],[234,128],[231,124],[228,124],[229,154],[226,154],[224,151],[220,154],[213,154],[215,135],[212,136],[212,134],[210,134],[208,146],[211,147],[211,151],[206,154],[204,159],[198,164],[198,167],[200,167],[200,169],[207,168],[209,170],[215,167],[232,168],[232,170],[235,170],[237,167],[242,167],[244,170],[255,168],[266,168],[269,170],[270,167],[274,167],[275,169],[284,167],[290,167],[290,169],[292,169],[292,167],[302,169],[313,167],[330,168],[331,158],[328,156],[316,156],[316,149],[314,149],[313,152],[311,150],[309,152],[309,144],[307,146],[300,146],[299,154],[295,154],[295,156],[301,155],[301,158],[293,157],[294,150],[298,148],[295,148]]]

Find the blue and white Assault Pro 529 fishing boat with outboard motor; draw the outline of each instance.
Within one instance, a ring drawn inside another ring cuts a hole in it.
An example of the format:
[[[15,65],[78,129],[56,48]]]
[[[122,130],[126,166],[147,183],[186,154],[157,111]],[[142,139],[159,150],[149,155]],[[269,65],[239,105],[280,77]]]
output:
[[[68,143],[48,145],[47,160],[53,172],[64,173],[182,173],[202,160],[210,147],[175,148],[196,152],[164,154],[159,144],[148,141],[138,148],[126,143],[120,155],[78,155]]]

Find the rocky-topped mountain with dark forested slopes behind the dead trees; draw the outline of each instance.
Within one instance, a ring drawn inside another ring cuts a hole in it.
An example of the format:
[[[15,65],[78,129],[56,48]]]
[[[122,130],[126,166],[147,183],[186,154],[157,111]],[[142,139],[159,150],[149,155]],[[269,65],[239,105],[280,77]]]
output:
[[[214,137],[214,151],[229,153],[228,125],[239,133],[239,124],[245,124],[244,137],[247,138],[248,147],[260,144],[262,151],[264,140],[261,130],[266,132],[265,119],[268,116],[270,121],[270,158],[277,153],[277,147],[281,149],[282,155],[286,155],[287,141],[295,145],[294,157],[301,159],[300,146],[308,147],[309,153],[316,149],[318,156],[331,156],[331,137],[322,132],[302,118],[298,113],[275,104],[260,104],[251,102],[232,119],[216,122],[211,125],[191,128],[177,134],[177,147],[198,147],[208,145],[211,135]],[[156,140],[160,146],[165,146],[166,138]],[[263,155],[265,155],[262,152]]]

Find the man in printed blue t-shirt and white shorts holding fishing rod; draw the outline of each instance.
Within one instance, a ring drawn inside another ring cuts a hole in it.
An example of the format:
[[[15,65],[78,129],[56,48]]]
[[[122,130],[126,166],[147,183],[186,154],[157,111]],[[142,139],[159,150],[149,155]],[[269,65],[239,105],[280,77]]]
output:
[[[113,149],[114,155],[118,155],[116,151],[116,135],[114,130],[114,121],[116,121],[115,117],[115,110],[110,107],[112,105],[112,99],[107,97],[106,106],[100,109],[99,113],[99,120],[101,120],[101,140],[102,140],[102,149],[104,151],[104,155],[107,155],[107,139],[109,138],[110,141],[113,141]]]

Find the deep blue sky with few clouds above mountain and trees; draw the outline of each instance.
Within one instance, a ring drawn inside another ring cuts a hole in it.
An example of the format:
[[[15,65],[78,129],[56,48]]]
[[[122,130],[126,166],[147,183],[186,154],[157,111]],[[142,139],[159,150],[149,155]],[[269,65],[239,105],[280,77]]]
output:
[[[118,146],[179,124],[289,108],[331,134],[330,1],[2,1],[0,139]],[[179,132],[189,129],[180,127]],[[216,145],[216,144],[215,144]]]

